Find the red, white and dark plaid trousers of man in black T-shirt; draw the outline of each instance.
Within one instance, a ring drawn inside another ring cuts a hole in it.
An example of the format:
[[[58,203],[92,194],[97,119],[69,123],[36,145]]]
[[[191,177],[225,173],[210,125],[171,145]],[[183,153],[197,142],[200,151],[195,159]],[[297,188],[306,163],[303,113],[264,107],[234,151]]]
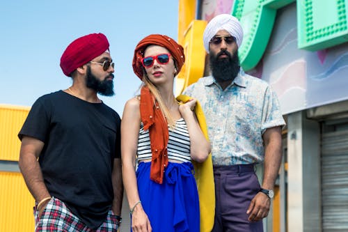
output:
[[[40,218],[38,217],[38,210],[34,207],[34,216],[35,232],[116,232],[119,226],[116,216],[109,210],[106,220],[100,227],[97,230],[90,229],[77,216],[72,214],[63,201],[53,196]]]

